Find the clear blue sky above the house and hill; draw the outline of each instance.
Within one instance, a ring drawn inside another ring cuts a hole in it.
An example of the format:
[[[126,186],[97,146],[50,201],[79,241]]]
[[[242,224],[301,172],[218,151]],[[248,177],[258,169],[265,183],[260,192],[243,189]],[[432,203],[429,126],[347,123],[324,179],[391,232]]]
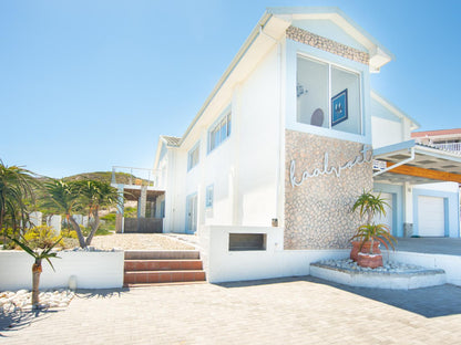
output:
[[[420,130],[461,127],[458,0],[0,0],[0,159],[54,178],[152,168],[265,9],[288,6],[340,8],[396,56],[373,90]]]

